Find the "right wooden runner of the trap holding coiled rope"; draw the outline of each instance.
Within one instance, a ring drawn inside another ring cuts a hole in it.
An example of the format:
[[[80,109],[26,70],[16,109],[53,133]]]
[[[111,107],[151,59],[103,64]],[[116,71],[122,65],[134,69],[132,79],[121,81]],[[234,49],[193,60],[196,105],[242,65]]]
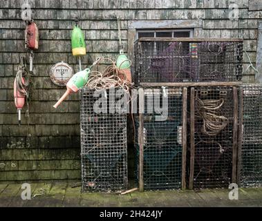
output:
[[[237,162],[237,144],[238,144],[238,94],[237,88],[233,87],[233,104],[234,104],[234,115],[233,115],[233,153],[232,153],[232,182],[236,183],[236,162]]]

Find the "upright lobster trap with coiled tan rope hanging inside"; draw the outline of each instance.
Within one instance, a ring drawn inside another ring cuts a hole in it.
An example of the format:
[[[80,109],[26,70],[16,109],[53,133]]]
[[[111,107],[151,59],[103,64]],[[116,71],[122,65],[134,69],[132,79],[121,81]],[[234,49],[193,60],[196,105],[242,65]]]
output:
[[[222,188],[236,182],[236,86],[192,87],[190,125],[189,189]]]

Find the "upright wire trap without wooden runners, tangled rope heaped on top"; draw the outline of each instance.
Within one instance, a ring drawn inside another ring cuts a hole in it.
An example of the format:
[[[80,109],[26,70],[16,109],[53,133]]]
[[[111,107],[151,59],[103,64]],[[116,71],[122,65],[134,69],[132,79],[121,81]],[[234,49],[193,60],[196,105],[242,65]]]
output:
[[[124,94],[119,88],[81,89],[82,191],[127,188],[127,105]]]

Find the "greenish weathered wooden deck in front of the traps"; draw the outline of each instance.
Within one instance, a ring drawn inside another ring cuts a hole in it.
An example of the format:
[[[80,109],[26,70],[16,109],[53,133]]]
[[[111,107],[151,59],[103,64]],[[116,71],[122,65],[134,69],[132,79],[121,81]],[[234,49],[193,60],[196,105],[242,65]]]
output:
[[[79,183],[77,183],[79,184]],[[134,191],[81,193],[75,182],[31,184],[31,200],[21,199],[21,184],[0,184],[0,207],[6,206],[262,206],[262,188],[239,189],[229,200],[227,189],[201,191]],[[72,186],[77,186],[72,188]]]

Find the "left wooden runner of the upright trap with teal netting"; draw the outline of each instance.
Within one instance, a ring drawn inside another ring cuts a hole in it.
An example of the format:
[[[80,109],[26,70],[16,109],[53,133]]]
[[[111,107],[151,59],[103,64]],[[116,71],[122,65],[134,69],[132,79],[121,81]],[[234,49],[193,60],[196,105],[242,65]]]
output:
[[[144,191],[144,90],[139,89],[139,128],[138,128],[138,144],[139,144],[139,190]]]

